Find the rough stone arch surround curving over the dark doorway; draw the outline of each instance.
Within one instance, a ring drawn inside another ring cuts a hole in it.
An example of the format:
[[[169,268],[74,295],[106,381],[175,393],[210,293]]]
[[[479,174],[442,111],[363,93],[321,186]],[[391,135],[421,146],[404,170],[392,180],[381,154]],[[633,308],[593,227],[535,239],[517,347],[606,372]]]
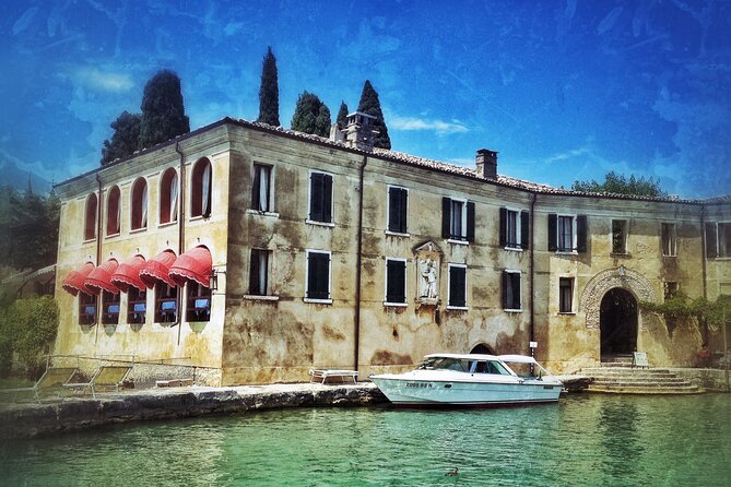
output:
[[[601,325],[601,302],[606,293],[613,288],[625,289],[634,296],[637,301],[658,302],[658,295],[652,284],[639,272],[627,269],[624,265],[608,269],[594,275],[587,283],[581,298],[579,299],[579,311],[586,317],[588,329],[599,329]],[[638,319],[637,330],[641,330]]]

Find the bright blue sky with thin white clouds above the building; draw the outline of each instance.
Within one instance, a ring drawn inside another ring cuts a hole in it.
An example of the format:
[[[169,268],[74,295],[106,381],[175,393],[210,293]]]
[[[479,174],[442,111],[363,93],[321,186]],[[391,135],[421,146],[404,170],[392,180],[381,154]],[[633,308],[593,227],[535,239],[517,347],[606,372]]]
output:
[[[163,68],[191,129],[256,119],[268,45],[284,127],[303,91],[334,117],[369,79],[397,151],[473,165],[487,147],[498,173],[566,188],[616,170],[731,192],[724,0],[5,0],[0,175],[97,167]]]

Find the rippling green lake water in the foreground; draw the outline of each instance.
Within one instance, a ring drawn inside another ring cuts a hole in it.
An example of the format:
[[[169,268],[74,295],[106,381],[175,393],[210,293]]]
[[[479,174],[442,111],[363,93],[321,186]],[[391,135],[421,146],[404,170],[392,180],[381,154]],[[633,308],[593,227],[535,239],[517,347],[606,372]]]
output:
[[[12,441],[0,454],[8,486],[729,486],[731,394],[285,409]]]

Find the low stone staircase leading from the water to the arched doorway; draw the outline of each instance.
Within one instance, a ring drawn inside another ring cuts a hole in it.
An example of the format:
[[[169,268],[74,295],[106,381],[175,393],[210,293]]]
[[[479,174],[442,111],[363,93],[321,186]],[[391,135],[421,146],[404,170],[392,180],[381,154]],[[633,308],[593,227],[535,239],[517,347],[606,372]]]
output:
[[[699,394],[698,385],[663,368],[639,368],[617,361],[578,372],[592,378],[587,392],[621,394]]]

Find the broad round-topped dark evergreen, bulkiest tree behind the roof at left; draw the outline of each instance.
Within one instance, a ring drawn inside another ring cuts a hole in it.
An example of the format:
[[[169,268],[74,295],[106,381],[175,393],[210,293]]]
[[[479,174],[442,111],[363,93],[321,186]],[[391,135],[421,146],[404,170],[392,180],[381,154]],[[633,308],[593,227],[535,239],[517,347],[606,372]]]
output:
[[[151,147],[190,132],[182,106],[180,79],[169,70],[158,71],[144,86],[139,147]]]

